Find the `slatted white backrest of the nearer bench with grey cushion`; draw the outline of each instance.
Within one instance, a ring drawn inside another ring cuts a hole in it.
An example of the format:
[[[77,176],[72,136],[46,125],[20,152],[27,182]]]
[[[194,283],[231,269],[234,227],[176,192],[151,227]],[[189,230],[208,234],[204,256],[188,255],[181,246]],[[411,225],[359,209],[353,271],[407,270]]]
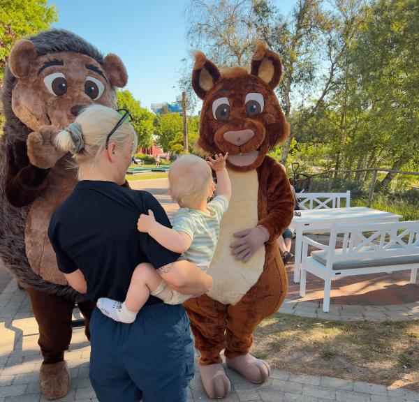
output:
[[[336,245],[343,234],[342,246]],[[335,249],[339,253],[335,253]],[[419,254],[419,221],[332,225],[327,260],[339,262]]]

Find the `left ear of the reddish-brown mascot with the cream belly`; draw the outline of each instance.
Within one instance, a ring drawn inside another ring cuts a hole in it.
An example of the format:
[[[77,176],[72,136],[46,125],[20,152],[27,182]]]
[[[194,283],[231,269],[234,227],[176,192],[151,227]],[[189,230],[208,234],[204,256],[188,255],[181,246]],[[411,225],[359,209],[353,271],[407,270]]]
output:
[[[193,52],[193,55],[195,56],[195,65],[192,70],[192,88],[203,99],[220,79],[221,74],[216,65],[208,60],[203,52]]]

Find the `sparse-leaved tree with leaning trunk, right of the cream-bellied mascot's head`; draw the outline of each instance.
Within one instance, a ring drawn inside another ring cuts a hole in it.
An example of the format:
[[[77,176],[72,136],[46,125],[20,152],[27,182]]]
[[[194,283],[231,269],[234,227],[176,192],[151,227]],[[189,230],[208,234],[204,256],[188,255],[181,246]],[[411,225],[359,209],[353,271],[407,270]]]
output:
[[[270,1],[254,3],[258,35],[282,58],[279,94],[285,101],[286,117],[293,105],[304,110],[286,140],[281,158],[285,164],[291,140],[335,84],[341,59],[365,19],[365,8],[362,0],[335,0],[331,10],[323,10],[321,0],[299,0],[291,15],[284,17]]]

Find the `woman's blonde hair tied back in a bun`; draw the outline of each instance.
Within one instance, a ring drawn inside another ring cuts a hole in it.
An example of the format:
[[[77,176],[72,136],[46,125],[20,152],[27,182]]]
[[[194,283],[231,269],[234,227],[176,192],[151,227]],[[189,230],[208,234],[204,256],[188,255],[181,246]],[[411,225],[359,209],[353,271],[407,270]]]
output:
[[[75,123],[58,133],[55,143],[59,149],[73,154],[77,163],[89,162],[89,160],[94,163],[96,157],[105,149],[106,136],[121,117],[121,114],[110,107],[91,105],[75,118]],[[71,126],[74,125],[82,137],[81,146],[75,141],[75,136],[71,134],[73,131]],[[114,142],[118,147],[122,147],[122,144],[128,139],[133,141],[132,153],[134,153],[138,146],[138,137],[133,126],[128,121],[124,121],[117,131],[112,133],[109,142]]]

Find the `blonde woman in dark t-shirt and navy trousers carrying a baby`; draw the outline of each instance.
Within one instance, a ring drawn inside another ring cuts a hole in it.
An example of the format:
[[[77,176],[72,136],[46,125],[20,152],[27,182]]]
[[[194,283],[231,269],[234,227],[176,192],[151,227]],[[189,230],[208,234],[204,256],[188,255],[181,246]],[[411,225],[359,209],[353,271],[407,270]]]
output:
[[[93,105],[55,139],[79,165],[79,182],[54,211],[48,232],[59,269],[93,301],[123,299],[142,262],[149,262],[178,292],[202,295],[212,278],[137,230],[138,217],[148,210],[161,225],[170,228],[170,223],[151,194],[124,186],[137,149],[129,119],[126,110],[119,114]],[[182,305],[150,296],[131,325],[96,308],[90,332],[90,379],[99,401],[186,401],[193,345]]]

